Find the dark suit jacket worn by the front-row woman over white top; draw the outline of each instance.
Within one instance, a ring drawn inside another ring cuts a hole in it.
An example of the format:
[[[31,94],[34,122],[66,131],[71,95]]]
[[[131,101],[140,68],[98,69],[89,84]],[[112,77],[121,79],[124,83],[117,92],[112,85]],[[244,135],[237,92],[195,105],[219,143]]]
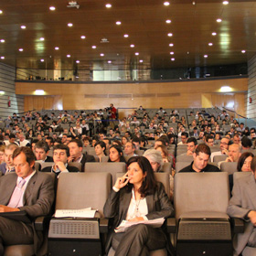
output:
[[[115,192],[113,189],[108,197],[104,208],[105,218],[112,218],[112,228],[115,229],[120,225],[123,219],[126,218],[127,211],[132,199],[132,190],[128,191],[126,187]],[[167,218],[174,213],[174,208],[165,193],[165,188],[162,183],[157,183],[157,188],[153,195],[145,197],[148,208],[147,219]],[[107,241],[106,250],[111,247],[112,233]]]

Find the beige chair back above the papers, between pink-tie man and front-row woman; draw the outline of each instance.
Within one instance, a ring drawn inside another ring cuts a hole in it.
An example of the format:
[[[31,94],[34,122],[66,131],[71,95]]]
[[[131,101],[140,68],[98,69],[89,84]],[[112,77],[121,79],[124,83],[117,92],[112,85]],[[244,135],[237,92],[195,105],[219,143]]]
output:
[[[103,207],[111,191],[109,173],[61,173],[59,175],[56,209],[97,209]]]

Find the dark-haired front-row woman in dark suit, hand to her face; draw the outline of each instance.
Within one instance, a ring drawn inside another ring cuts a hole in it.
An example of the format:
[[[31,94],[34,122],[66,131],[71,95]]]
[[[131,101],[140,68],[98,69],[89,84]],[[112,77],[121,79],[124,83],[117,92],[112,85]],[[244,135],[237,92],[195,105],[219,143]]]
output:
[[[113,229],[125,219],[167,218],[174,208],[165,194],[162,183],[155,181],[153,169],[144,156],[133,156],[128,161],[128,172],[116,180],[104,206],[104,216],[113,219]],[[112,245],[115,255],[149,255],[148,251],[167,246],[161,228],[138,224],[123,233],[110,233],[107,250]],[[168,247],[170,249],[170,247]]]

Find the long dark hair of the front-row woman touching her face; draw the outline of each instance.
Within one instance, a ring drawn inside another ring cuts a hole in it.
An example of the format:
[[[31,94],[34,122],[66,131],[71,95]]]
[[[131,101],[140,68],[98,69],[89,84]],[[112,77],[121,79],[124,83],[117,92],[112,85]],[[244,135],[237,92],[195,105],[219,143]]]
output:
[[[139,189],[141,197],[146,197],[152,195],[155,192],[156,181],[154,176],[154,171],[149,161],[144,156],[133,156],[128,160],[127,167],[132,163],[137,163],[140,168],[143,170],[143,173],[146,174],[142,186]],[[131,189],[133,184],[128,183],[128,187]]]

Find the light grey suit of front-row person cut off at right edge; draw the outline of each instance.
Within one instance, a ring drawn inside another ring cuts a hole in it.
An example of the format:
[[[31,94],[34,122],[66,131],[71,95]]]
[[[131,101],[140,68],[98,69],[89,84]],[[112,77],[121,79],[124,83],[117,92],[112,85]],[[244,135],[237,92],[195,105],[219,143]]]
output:
[[[254,227],[250,219],[245,219],[245,217],[250,210],[256,210],[255,195],[256,183],[252,174],[242,176],[235,181],[227,213],[230,217],[244,219],[246,222],[244,232],[237,234],[234,238],[234,255],[240,255],[253,231]]]

